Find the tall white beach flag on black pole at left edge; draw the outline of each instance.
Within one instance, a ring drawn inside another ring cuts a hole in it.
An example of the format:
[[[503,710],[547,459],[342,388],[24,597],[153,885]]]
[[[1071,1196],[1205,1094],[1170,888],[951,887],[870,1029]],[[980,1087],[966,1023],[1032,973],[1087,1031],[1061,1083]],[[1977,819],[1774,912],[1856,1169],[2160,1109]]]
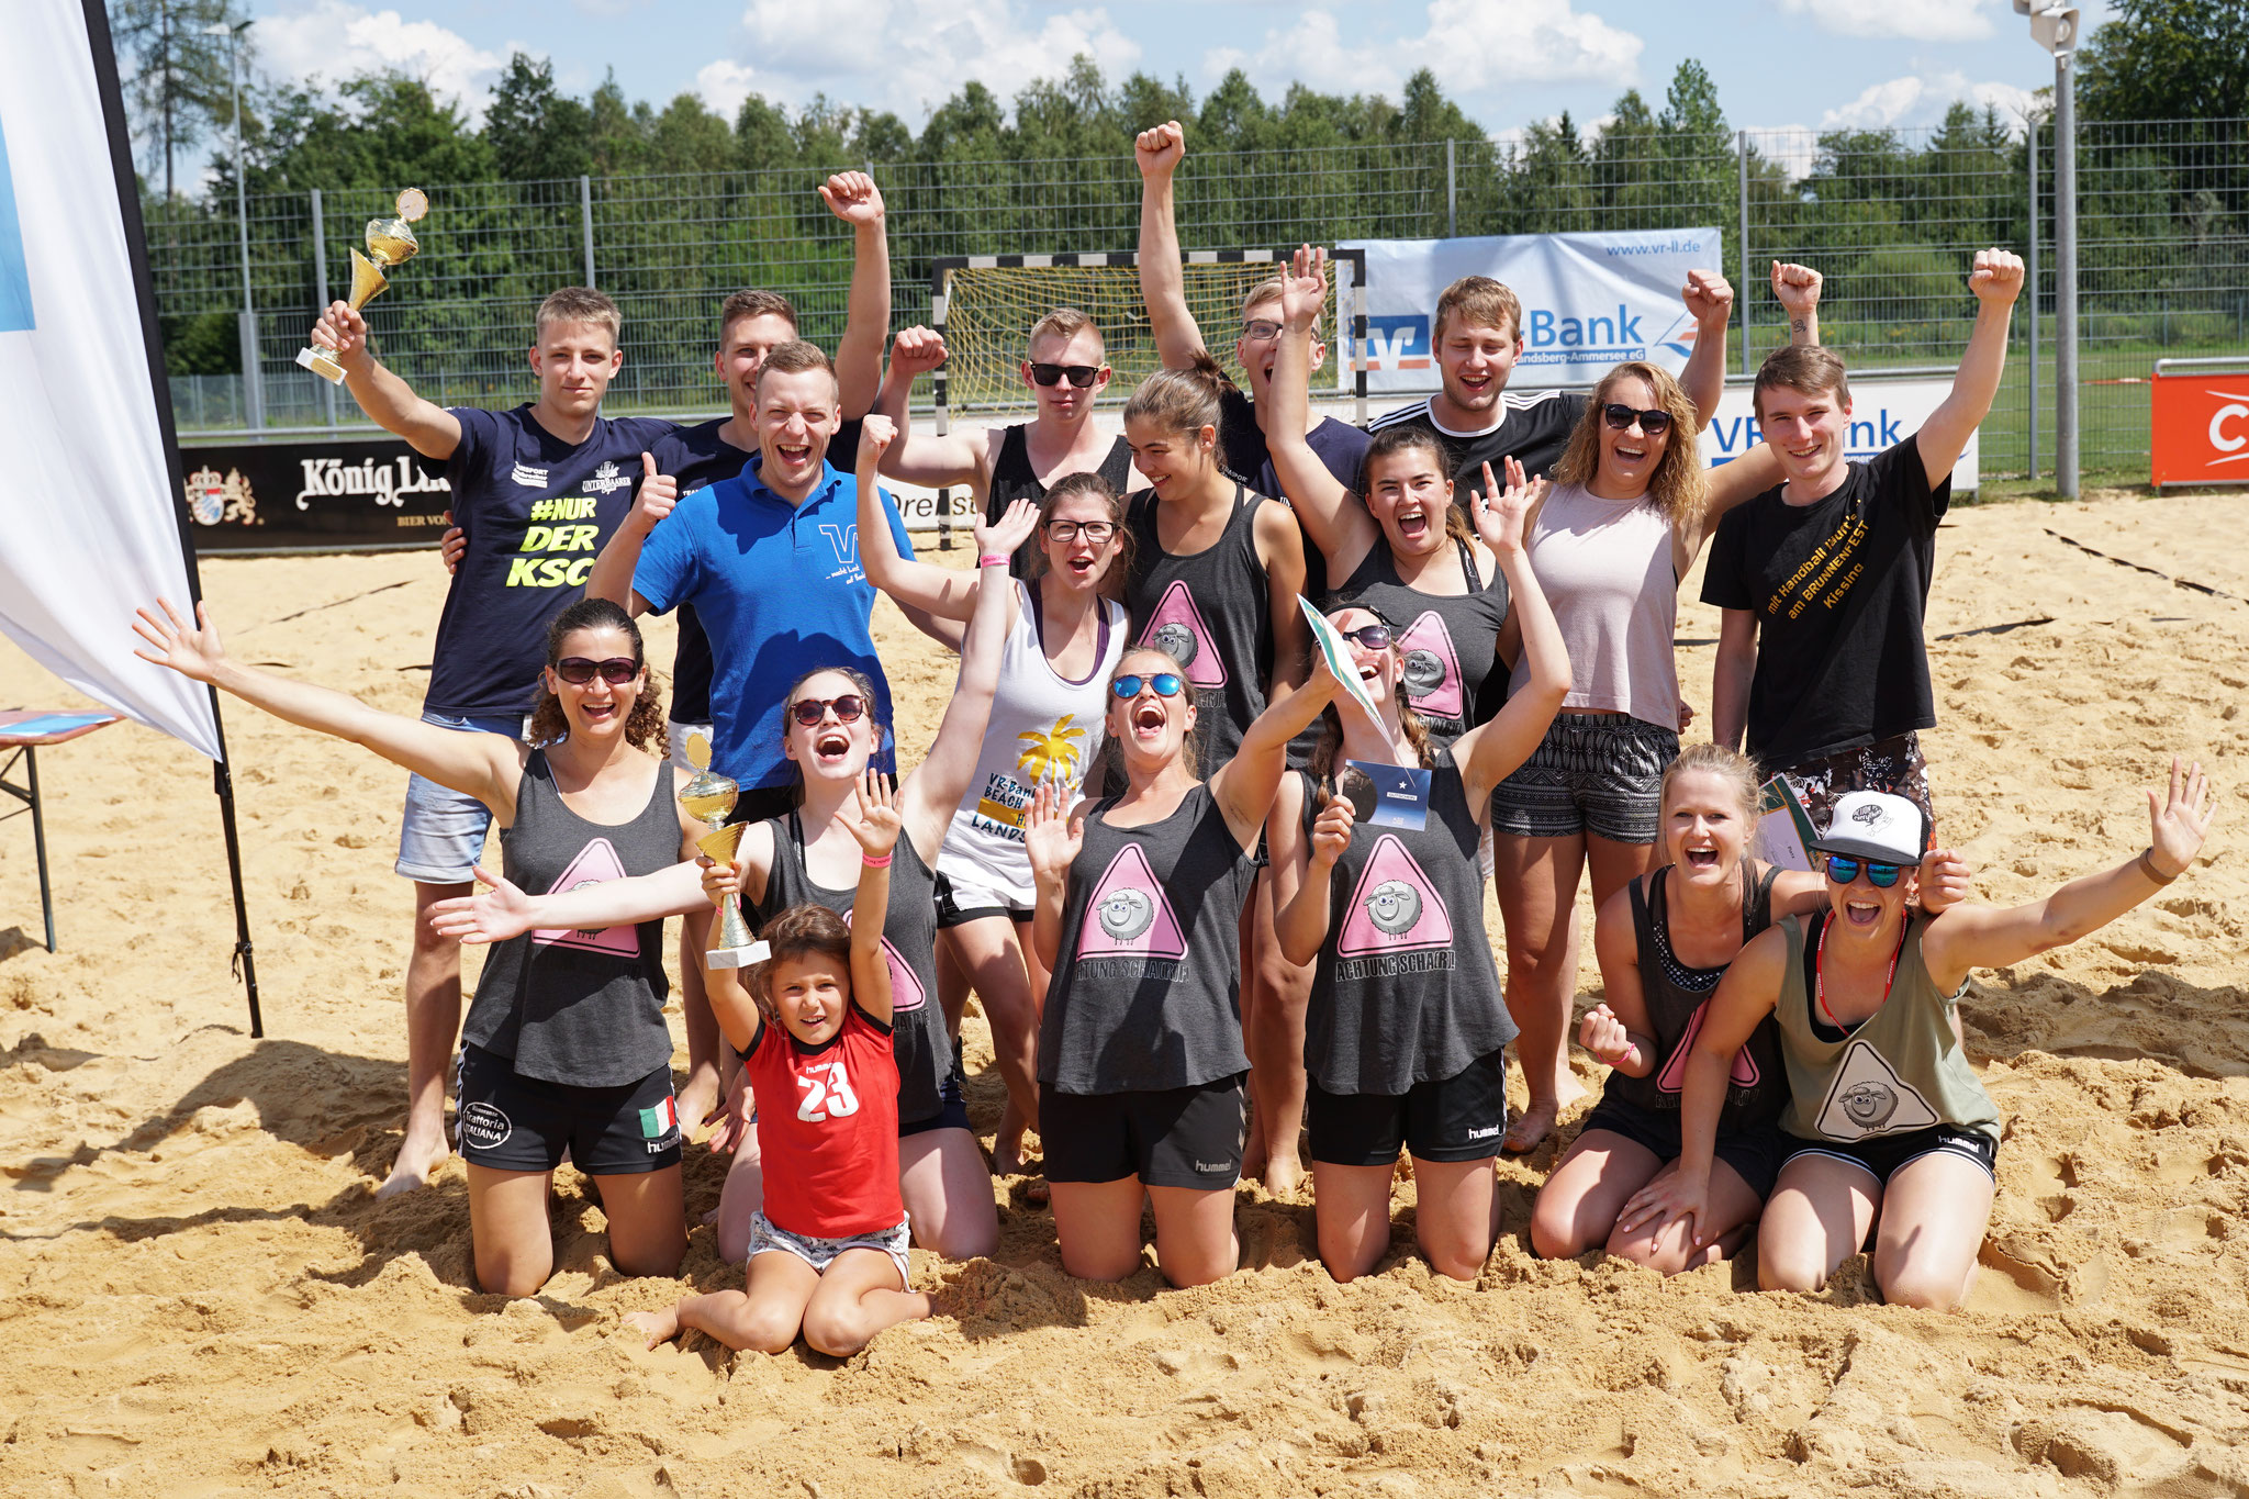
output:
[[[133,656],[187,562],[81,0],[0,7],[0,629],[216,760],[209,692]]]

